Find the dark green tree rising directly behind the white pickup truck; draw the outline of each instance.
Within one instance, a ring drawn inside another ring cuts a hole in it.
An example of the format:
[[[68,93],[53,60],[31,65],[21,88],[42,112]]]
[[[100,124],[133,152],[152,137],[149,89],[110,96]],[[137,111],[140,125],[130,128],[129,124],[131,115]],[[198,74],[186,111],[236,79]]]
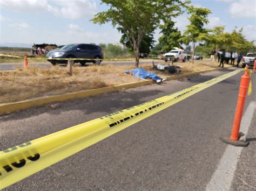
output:
[[[163,25],[159,26],[160,33],[163,35],[158,40],[164,52],[169,52],[173,47],[180,47],[179,39],[181,38],[181,33],[177,27],[174,28],[174,24],[171,19],[167,19]]]

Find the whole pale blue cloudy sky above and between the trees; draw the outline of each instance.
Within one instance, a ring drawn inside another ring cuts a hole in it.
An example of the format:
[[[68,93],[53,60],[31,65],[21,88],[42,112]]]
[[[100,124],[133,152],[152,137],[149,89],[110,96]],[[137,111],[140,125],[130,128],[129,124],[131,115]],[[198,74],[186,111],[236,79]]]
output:
[[[120,0],[121,1],[121,0]],[[93,24],[90,19],[107,10],[99,0],[1,0],[0,46],[20,46],[42,43],[65,45],[72,43],[119,43],[120,34],[109,24]],[[248,40],[256,40],[256,0],[192,0],[196,7],[211,10],[208,16],[211,29],[225,26],[231,32],[243,27]],[[183,32],[188,25],[187,15],[172,18]],[[161,36],[157,29],[154,40]]]

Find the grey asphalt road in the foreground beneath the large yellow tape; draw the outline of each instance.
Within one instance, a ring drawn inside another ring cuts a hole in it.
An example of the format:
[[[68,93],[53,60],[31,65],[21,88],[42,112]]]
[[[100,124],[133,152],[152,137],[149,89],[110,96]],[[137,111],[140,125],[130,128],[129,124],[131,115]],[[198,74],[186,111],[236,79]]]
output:
[[[230,72],[224,69],[0,116],[0,149],[129,108]],[[227,145],[242,72],[92,145],[6,190],[205,190]],[[246,98],[245,110],[256,101]],[[255,190],[256,112],[231,190]],[[237,148],[237,147],[235,147]],[[228,160],[233,160],[232,158]]]

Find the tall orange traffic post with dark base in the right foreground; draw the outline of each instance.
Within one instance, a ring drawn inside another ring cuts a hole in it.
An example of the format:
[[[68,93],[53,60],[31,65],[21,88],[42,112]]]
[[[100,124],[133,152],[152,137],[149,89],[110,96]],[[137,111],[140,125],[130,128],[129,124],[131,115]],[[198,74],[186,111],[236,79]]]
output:
[[[245,67],[245,74],[241,77],[240,89],[238,94],[237,109],[235,110],[234,123],[230,137],[221,137],[224,143],[231,144],[234,146],[247,146],[249,142],[246,140],[239,140],[240,137],[244,136],[244,133],[240,132],[240,123],[242,118],[242,110],[244,110],[245,98],[250,83],[250,76],[248,66]]]

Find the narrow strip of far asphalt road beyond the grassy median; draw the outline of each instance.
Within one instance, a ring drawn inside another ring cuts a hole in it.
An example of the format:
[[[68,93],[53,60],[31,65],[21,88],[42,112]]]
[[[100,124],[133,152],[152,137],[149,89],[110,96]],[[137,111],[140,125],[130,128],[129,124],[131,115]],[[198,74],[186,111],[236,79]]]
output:
[[[154,63],[161,63],[163,62],[163,60],[154,60]],[[144,63],[152,63],[151,60],[140,60],[139,61],[140,64],[144,64]],[[88,63],[88,65],[91,65],[92,63]],[[134,65],[134,61],[103,61],[102,63],[100,63],[100,65],[110,65],[110,64],[114,64],[114,65],[118,65],[118,66],[123,66],[123,65]],[[42,68],[50,68],[52,66],[52,64],[50,62],[32,62],[29,63],[30,66],[38,66],[38,67],[42,67]],[[0,63],[0,71],[4,71],[4,70],[14,70],[15,67],[17,66],[23,66],[23,63]],[[60,65],[65,67],[65,65]],[[75,63],[75,66],[78,67],[86,67],[86,66],[81,66],[79,63]]]

